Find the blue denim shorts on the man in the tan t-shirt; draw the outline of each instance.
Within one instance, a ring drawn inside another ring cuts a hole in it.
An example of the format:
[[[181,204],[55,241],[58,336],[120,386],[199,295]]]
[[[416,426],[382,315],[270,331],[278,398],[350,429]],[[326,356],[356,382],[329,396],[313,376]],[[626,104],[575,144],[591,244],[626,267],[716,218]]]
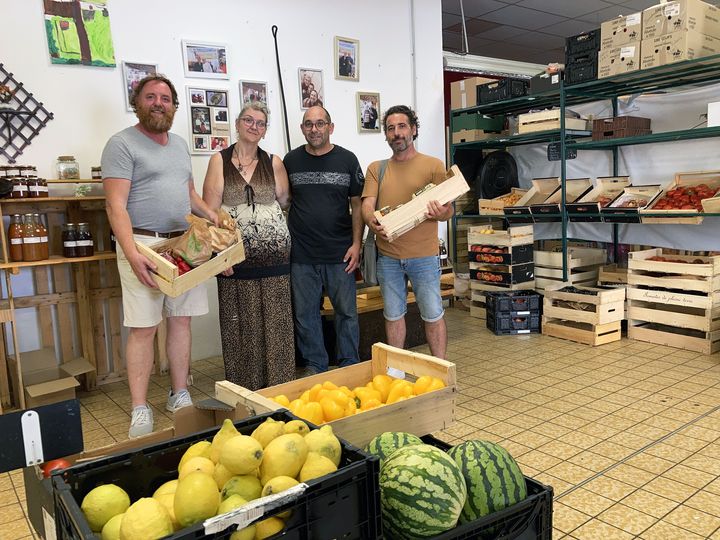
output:
[[[393,259],[378,255],[378,282],[383,295],[383,316],[388,321],[402,319],[407,313],[407,282],[413,286],[420,317],[425,322],[443,318],[445,310],[440,296],[440,258]]]

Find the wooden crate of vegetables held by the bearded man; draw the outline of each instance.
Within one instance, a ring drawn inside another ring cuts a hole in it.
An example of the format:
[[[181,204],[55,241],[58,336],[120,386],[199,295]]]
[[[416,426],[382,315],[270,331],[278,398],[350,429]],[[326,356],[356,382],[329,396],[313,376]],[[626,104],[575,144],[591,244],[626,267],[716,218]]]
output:
[[[237,242],[235,244],[183,275],[179,275],[179,270],[176,265],[158,255],[158,253],[171,248],[174,243],[177,242],[177,238],[171,238],[153,244],[152,248],[141,242],[135,242],[135,246],[140,253],[153,261],[157,266],[155,282],[158,288],[168,296],[174,298],[218,275],[223,270],[227,270],[231,266],[245,260],[242,236],[240,235],[240,231],[236,231],[236,233]]]

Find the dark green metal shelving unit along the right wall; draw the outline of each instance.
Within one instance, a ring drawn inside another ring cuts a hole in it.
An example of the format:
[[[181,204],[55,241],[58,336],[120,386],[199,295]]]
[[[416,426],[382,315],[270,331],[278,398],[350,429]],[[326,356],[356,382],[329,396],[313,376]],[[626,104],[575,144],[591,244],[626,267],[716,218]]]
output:
[[[560,176],[562,187],[562,203],[561,207],[565,208],[565,181],[567,179],[567,155],[568,150],[610,150],[613,152],[613,175],[618,174],[618,149],[623,146],[631,146],[638,144],[655,144],[663,142],[674,142],[682,140],[703,139],[710,137],[720,137],[720,127],[706,127],[696,129],[685,129],[678,131],[670,131],[663,133],[653,133],[650,135],[641,135],[636,137],[623,137],[618,139],[607,139],[602,141],[593,141],[586,137],[588,132],[573,132],[565,129],[565,109],[569,106],[589,103],[592,101],[610,100],[612,104],[613,116],[617,115],[618,98],[620,96],[640,94],[640,93],[671,93],[676,88],[686,88],[693,86],[704,86],[717,83],[720,80],[720,54],[706,56],[694,60],[677,62],[665,66],[658,66],[651,69],[625,73],[607,79],[599,79],[587,81],[584,83],[574,84],[570,86],[561,86],[558,90],[537,94],[535,96],[523,96],[513,98],[497,103],[489,103],[459,109],[450,112],[450,132],[452,133],[453,118],[460,114],[473,112],[485,115],[497,114],[517,114],[527,112],[530,109],[559,106],[560,113],[560,129],[552,132],[539,132],[525,135],[514,135],[506,137],[493,137],[483,141],[470,143],[462,143],[460,145],[450,144],[450,160],[454,163],[454,153],[456,148],[477,148],[498,149],[509,146],[519,146],[537,143],[560,143]],[[648,217],[656,214],[646,214]],[[657,214],[664,215],[664,214]],[[707,217],[717,217],[717,213],[700,213],[693,214]],[[485,217],[478,214],[465,214],[454,216],[452,220],[453,233],[458,219],[465,217]],[[492,216],[487,216],[491,218]],[[570,214],[563,211],[561,218],[562,230],[562,247],[563,252],[567,250],[567,225]],[[682,216],[681,216],[682,217]],[[617,244],[617,223],[613,224],[613,232],[615,244]],[[456,244],[452,245],[453,257],[456,256]],[[563,264],[563,279],[567,278],[567,268]]]

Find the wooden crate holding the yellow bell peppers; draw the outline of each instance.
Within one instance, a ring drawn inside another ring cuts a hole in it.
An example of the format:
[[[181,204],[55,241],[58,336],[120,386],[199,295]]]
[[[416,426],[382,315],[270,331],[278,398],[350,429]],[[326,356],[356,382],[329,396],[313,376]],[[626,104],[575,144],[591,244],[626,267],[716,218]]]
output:
[[[263,388],[257,392],[228,381],[220,381],[215,384],[215,397],[231,406],[241,403],[251,409],[253,414],[259,414],[283,408],[269,399],[278,394],[285,394],[292,401],[314,384],[326,380],[348,388],[364,386],[375,375],[387,373],[389,368],[405,373],[408,379],[421,375],[438,377],[446,387],[329,422],[335,435],[363,448],[373,437],[385,431],[427,435],[452,424],[457,395],[455,364],[383,343],[373,345],[372,360],[367,362]]]

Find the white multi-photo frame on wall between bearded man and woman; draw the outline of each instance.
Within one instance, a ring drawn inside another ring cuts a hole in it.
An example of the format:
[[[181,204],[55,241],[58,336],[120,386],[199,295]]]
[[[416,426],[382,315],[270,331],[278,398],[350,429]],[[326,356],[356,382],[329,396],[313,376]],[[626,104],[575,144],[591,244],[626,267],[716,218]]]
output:
[[[231,144],[232,116],[227,89],[188,86],[191,152],[214,154]]]

